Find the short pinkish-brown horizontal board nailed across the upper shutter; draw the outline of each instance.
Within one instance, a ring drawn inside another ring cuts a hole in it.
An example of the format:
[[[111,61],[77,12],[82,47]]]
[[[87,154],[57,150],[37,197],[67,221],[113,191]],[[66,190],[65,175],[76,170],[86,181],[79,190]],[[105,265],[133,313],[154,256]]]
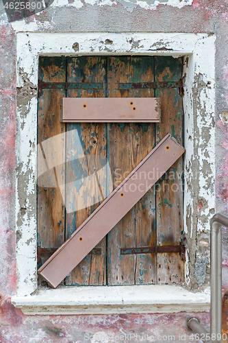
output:
[[[63,98],[60,121],[155,123],[160,117],[160,99],[155,97]]]

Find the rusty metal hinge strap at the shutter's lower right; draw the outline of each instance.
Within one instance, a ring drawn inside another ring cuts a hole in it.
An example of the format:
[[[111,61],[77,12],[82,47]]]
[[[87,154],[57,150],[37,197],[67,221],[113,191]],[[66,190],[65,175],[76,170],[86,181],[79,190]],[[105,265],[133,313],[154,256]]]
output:
[[[181,259],[185,260],[186,247],[184,244],[179,244],[179,246],[142,246],[140,248],[121,248],[121,255],[160,254],[164,252],[179,252]]]

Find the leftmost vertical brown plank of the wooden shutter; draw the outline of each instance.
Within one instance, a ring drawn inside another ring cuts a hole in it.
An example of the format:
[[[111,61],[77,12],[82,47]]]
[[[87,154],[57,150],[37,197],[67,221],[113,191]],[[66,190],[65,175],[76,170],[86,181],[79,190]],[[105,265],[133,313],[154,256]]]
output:
[[[39,79],[44,82],[65,82],[65,59],[40,58]],[[41,248],[58,248],[64,243],[64,192],[61,194],[58,187],[58,182],[64,184],[65,177],[65,124],[59,120],[60,98],[64,96],[64,90],[43,89],[38,98],[37,221],[38,246]],[[43,173],[47,163],[53,168]],[[63,168],[60,175],[57,165]],[[42,256],[40,264],[47,258]]]

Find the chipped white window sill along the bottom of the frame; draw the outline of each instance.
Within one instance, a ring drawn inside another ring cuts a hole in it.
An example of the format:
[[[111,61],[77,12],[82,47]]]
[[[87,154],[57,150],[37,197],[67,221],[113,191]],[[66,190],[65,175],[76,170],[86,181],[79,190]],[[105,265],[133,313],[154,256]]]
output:
[[[210,311],[210,292],[173,285],[88,286],[39,289],[13,296],[24,314],[153,314]]]

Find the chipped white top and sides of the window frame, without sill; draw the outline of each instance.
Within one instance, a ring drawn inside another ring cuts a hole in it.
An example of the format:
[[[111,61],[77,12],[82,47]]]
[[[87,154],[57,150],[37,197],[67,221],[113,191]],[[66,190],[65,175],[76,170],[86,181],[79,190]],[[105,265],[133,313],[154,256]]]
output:
[[[105,40],[112,44],[105,44]],[[183,68],[186,74],[184,84],[184,182],[185,197],[183,217],[184,230],[187,234],[196,230],[210,228],[209,211],[214,209],[214,36],[207,34],[164,34],[164,33],[46,33],[18,32],[17,34],[17,86],[23,86],[25,75],[33,87],[38,86],[38,56],[40,55],[75,55],[74,43],[79,44],[77,55],[166,55],[186,56]],[[210,60],[211,65],[205,63]],[[23,71],[23,73],[21,73]],[[199,75],[201,73],[201,76]],[[208,82],[211,82],[208,84]],[[18,105],[19,106],[19,105]],[[17,165],[18,174],[28,175],[24,184],[16,190],[16,222],[21,238],[17,244],[18,296],[29,296],[37,287],[36,281],[36,97],[32,97],[27,106],[17,110]],[[209,130],[208,142],[203,141],[205,129]],[[31,146],[31,147],[30,147]],[[207,165],[207,172],[203,166]],[[199,168],[199,178],[195,170]],[[18,175],[19,177],[20,175]],[[212,185],[206,187],[207,178],[212,176]],[[28,185],[27,185],[28,183]],[[21,187],[21,188],[20,188]],[[29,214],[21,216],[20,189],[27,189],[26,208]],[[201,196],[207,202],[201,216],[197,218],[196,204]],[[188,221],[188,217],[190,217]],[[19,218],[19,220],[18,220]],[[197,220],[199,226],[197,227]],[[29,242],[29,244],[27,243]],[[191,253],[191,242],[188,242]],[[188,251],[187,249],[187,251]],[[193,251],[194,252],[194,251]],[[190,265],[186,259],[186,283],[190,282]],[[25,268],[26,266],[26,268]],[[132,289],[138,286],[131,286]],[[144,287],[144,286],[143,286]],[[92,287],[96,289],[96,287]],[[64,288],[65,291],[67,289]],[[74,287],[71,287],[73,292]],[[87,289],[87,297],[91,298]],[[65,292],[64,291],[64,292]],[[40,297],[45,296],[43,291]],[[64,294],[63,292],[63,294]],[[82,291],[81,291],[82,292]],[[143,293],[143,292],[142,292]],[[170,294],[169,294],[170,295]],[[163,294],[161,294],[163,297]],[[38,298],[39,301],[42,299]],[[30,297],[28,298],[30,299]],[[46,298],[44,298],[46,299]],[[71,296],[68,301],[70,302]],[[70,304],[70,303],[69,303]],[[179,303],[178,303],[179,304]],[[127,305],[127,304],[125,304]],[[139,305],[139,304],[138,304]],[[111,305],[110,305],[111,306]],[[196,305],[197,306],[197,305]],[[123,306],[124,307],[124,306]],[[198,309],[202,307],[199,303]],[[194,309],[195,311],[197,308]],[[76,311],[76,310],[75,310]],[[104,309],[104,311],[106,311]],[[112,311],[112,310],[109,310]],[[121,310],[122,311],[122,310]],[[127,311],[123,309],[123,311]],[[158,309],[156,310],[158,311]],[[168,309],[170,311],[170,308]],[[182,311],[182,307],[179,307]]]

